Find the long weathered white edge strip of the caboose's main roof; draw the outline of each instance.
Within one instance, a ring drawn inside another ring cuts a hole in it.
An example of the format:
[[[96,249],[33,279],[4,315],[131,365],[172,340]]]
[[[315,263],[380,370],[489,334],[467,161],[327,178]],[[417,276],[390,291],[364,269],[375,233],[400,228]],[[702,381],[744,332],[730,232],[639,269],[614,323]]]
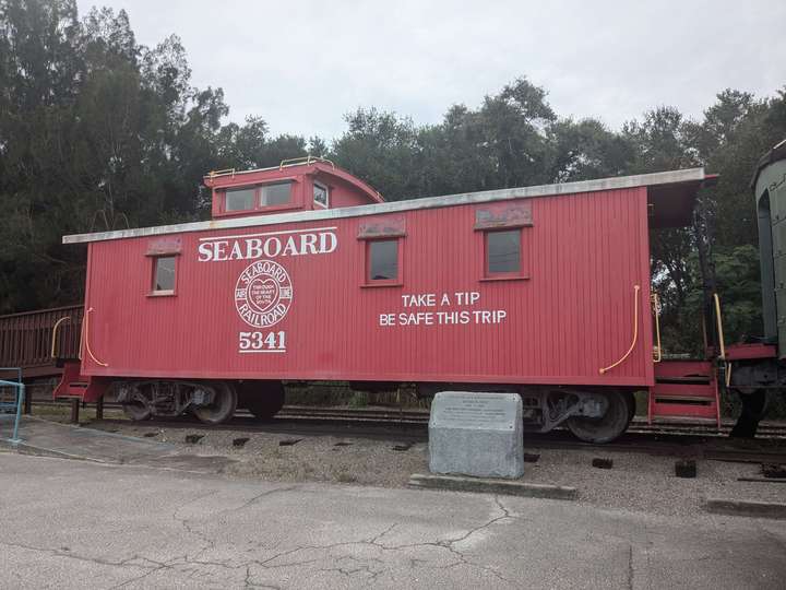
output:
[[[181,223],[175,225],[159,225],[155,227],[140,227],[135,229],[119,229],[115,232],[98,232],[94,234],[74,234],[63,236],[63,244],[83,244],[87,241],[104,241],[132,237],[157,236],[165,234],[181,234],[186,232],[203,232],[206,229],[231,229],[238,227],[258,227],[261,225],[275,225],[291,222],[311,222],[337,220],[342,217],[359,217],[364,215],[379,215],[382,213],[397,213],[417,209],[436,209],[473,203],[487,203],[505,201],[510,199],[532,199],[534,197],[556,197],[559,194],[573,194],[577,192],[594,192],[599,190],[617,190],[635,187],[652,187],[657,185],[672,185],[678,182],[704,180],[704,168],[689,168],[634,176],[617,176],[598,178],[596,180],[580,180],[577,182],[563,182],[556,185],[540,185],[535,187],[509,188],[499,190],[485,190],[480,192],[464,192],[446,194],[444,197],[426,197],[408,201],[392,201],[367,205],[347,206],[343,209],[326,209],[321,211],[298,211],[295,213],[281,213],[277,215],[257,215],[251,217],[230,217],[205,222]]]

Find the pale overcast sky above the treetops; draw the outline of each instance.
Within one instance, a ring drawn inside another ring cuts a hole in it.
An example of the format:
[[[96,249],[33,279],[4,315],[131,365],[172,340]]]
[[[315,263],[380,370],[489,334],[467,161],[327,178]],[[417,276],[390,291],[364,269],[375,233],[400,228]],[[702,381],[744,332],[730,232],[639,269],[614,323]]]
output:
[[[96,2],[79,0],[85,13]],[[376,106],[438,122],[525,75],[560,116],[612,128],[658,105],[700,117],[726,87],[786,84],[786,1],[107,0],[138,42],[176,33],[229,118],[332,139]]]

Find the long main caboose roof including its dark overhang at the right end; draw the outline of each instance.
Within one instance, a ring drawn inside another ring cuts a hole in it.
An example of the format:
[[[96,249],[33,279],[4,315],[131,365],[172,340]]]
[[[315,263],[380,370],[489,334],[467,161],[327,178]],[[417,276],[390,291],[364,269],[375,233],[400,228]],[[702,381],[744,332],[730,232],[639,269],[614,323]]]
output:
[[[640,174],[634,176],[616,176],[610,178],[599,178],[596,180],[581,180],[577,182],[485,190],[480,192],[463,192],[458,194],[448,194],[444,197],[426,197],[407,201],[373,203],[367,205],[347,206],[343,209],[299,211],[272,215],[230,217],[205,222],[120,229],[115,232],[98,232],[94,234],[75,234],[63,236],[62,241],[63,244],[82,244],[87,241],[104,241],[109,239],[157,236],[163,234],[181,234],[184,232],[204,232],[210,229],[255,227],[281,223],[360,217],[364,215],[397,213],[418,209],[437,209],[442,206],[488,203],[512,199],[533,199],[536,197],[560,197],[582,192],[598,192],[638,187],[647,188],[647,202],[651,205],[650,225],[652,227],[679,227],[690,225],[693,205],[695,203],[695,196],[699,188],[705,184],[713,182],[716,178],[717,177],[715,175],[706,175],[704,173],[704,168],[690,168],[654,174]]]

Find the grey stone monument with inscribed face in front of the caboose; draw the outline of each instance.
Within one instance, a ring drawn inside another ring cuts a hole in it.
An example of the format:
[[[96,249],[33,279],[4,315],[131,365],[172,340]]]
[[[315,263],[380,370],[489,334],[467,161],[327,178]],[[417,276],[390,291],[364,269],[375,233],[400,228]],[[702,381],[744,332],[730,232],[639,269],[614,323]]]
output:
[[[517,393],[437,393],[429,418],[429,469],[476,477],[521,477],[522,411]]]

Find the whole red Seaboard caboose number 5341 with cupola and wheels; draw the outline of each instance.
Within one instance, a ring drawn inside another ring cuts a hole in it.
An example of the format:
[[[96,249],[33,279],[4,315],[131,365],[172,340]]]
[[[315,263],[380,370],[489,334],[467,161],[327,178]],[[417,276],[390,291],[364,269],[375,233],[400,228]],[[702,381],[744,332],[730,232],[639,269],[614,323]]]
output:
[[[273,415],[282,381],[514,390],[536,428],[607,440],[634,390],[658,412],[648,232],[688,225],[707,178],[383,202],[326,161],[213,173],[212,221],[63,238],[88,244],[87,279],[81,365],[56,394],[111,385],[136,418],[211,423]],[[692,413],[714,417],[705,397]]]

